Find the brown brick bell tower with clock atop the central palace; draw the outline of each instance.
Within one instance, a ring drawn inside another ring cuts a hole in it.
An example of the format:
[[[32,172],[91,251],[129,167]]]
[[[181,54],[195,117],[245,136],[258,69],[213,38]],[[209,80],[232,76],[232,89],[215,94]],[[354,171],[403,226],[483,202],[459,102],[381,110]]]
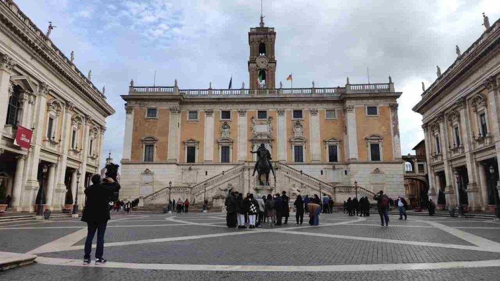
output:
[[[260,15],[258,27],[251,27],[248,32],[250,57],[248,59],[249,87],[275,88],[276,58],[274,57],[274,27],[264,26],[264,17]]]

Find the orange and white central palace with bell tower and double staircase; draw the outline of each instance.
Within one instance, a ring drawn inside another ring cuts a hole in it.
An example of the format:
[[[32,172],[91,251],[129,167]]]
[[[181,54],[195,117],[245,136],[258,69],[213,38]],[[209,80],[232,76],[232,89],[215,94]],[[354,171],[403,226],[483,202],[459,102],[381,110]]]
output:
[[[120,197],[143,204],[254,192],[263,143],[270,151],[274,192],[317,193],[343,201],[356,193],[403,194],[397,98],[387,83],[343,87],[275,86],[276,32],[248,32],[249,88],[137,86],[126,101]]]

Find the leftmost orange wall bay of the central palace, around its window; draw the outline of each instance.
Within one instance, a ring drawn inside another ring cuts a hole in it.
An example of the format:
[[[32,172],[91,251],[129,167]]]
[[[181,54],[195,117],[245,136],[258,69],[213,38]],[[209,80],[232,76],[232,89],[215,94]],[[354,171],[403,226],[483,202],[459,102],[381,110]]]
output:
[[[141,138],[152,135],[158,138],[156,143],[156,161],[166,161],[168,142],[168,119],[170,110],[158,108],[158,118],[146,118],[146,108],[133,109],[132,152],[131,161],[142,161]]]

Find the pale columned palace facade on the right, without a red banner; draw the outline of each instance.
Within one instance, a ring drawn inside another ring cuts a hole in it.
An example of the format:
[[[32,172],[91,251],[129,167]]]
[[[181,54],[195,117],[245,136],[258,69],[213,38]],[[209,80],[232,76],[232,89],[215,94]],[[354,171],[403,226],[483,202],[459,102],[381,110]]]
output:
[[[429,197],[447,208],[486,210],[498,196],[500,20],[422,93]],[[438,202],[437,197],[441,193]]]

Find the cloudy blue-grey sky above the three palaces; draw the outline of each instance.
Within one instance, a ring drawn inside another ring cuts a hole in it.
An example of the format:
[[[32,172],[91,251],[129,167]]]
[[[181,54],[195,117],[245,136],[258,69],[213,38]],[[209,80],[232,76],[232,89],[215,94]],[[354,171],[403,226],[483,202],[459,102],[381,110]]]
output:
[[[248,83],[250,27],[258,25],[259,0],[15,0],[40,29],[92,81],[106,86],[116,114],[107,119],[104,153],[121,158],[128,82],[181,88],[226,88]],[[397,91],[401,152],[423,138],[421,81],[435,79],[484,31],[482,12],[493,23],[499,0],[264,0],[266,26],[275,27],[276,84],[293,73],[294,87],[387,82]],[[104,158],[104,157],[103,157]]]

